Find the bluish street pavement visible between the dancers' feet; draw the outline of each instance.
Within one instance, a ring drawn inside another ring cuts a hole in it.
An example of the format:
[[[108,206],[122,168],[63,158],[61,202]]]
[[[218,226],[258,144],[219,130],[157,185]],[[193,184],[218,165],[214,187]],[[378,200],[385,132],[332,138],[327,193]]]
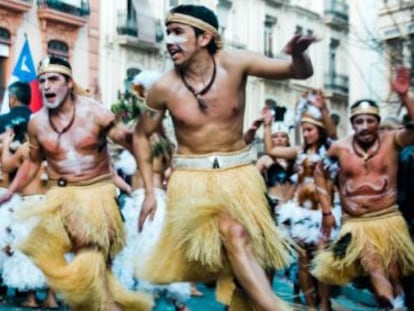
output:
[[[203,292],[203,297],[193,297],[189,300],[188,306],[190,311],[224,311],[224,306],[217,303],[214,297],[214,288],[209,288],[204,284],[197,284],[197,288]],[[306,310],[303,305],[293,304],[293,287],[292,283],[283,275],[278,275],[273,283],[275,293],[282,299],[290,302],[292,308],[296,311]],[[367,293],[367,289],[357,289],[352,286],[346,288],[337,288],[334,291],[334,297],[331,299],[334,311],[379,311],[380,309],[373,306],[372,294]],[[39,294],[42,298],[44,293]],[[366,296],[365,298],[363,296]],[[52,310],[42,308],[21,308],[19,304],[21,298],[17,298],[13,291],[9,291],[6,302],[0,304],[0,310],[24,311],[24,310]],[[364,303],[365,302],[365,303]],[[54,309],[56,310],[56,309]],[[59,311],[69,310],[61,307]],[[158,299],[154,311],[174,311],[173,305],[165,299]]]

